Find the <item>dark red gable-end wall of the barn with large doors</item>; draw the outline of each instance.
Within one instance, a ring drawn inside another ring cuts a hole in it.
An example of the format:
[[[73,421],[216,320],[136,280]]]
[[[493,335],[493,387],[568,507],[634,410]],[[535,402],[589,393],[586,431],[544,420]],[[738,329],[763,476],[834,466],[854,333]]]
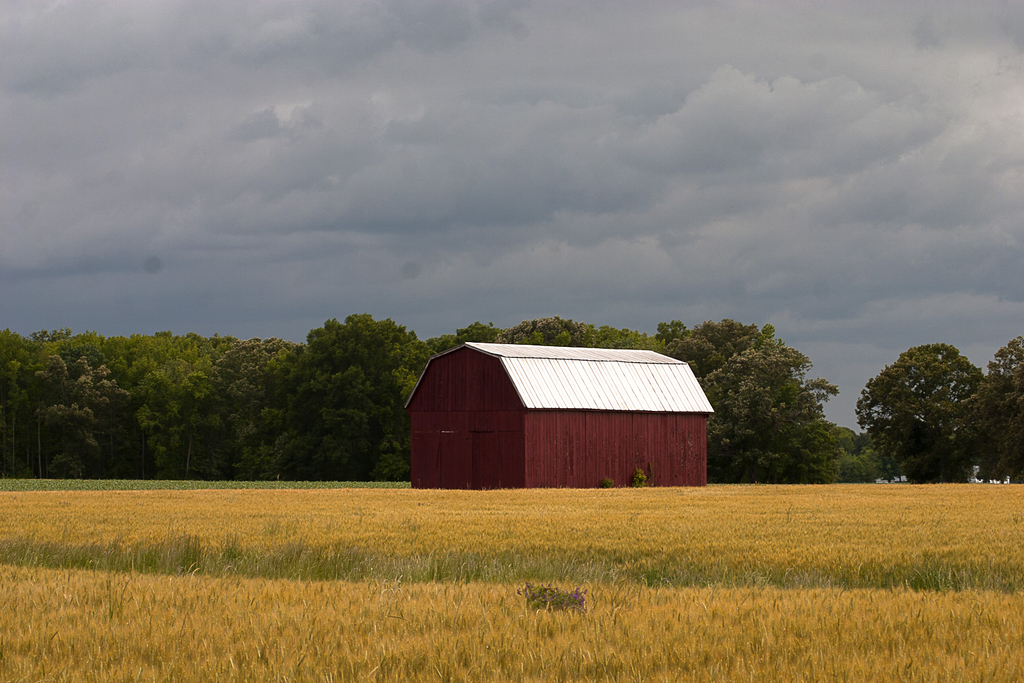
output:
[[[500,359],[469,348],[433,358],[408,410],[414,488],[525,485],[525,411]]]

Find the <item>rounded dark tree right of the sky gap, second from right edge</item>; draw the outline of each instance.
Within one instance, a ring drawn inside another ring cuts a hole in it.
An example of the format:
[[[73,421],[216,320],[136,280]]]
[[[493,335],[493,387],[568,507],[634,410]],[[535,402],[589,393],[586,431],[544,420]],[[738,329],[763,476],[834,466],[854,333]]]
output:
[[[949,344],[914,346],[868,380],[857,422],[911,480],[966,480],[976,435],[968,399],[982,379]]]

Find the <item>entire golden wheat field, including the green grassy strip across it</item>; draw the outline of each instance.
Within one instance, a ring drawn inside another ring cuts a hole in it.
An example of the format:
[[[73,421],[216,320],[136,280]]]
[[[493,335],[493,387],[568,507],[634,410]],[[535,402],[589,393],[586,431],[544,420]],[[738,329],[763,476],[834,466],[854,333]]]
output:
[[[0,493],[0,680],[1019,681],[1022,494]]]

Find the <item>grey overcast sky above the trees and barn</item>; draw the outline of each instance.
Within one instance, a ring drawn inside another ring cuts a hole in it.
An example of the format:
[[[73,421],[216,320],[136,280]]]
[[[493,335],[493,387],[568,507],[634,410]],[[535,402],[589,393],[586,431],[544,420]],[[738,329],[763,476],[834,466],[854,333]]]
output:
[[[1024,333],[1024,3],[0,4],[0,329]]]

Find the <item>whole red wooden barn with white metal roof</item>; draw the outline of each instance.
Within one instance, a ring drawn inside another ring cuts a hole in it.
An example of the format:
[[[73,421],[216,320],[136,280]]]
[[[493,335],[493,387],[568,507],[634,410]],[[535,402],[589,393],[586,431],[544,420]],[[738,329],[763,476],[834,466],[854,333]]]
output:
[[[708,483],[711,403],[653,351],[467,343],[427,361],[406,410],[415,488]]]

